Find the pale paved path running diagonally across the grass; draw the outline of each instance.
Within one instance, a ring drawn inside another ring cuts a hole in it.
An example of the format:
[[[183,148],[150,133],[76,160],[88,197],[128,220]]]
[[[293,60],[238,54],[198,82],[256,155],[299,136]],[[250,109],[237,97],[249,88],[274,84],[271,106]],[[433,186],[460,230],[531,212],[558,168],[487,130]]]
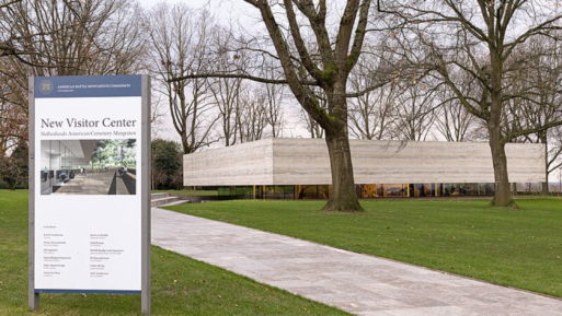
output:
[[[158,208],[152,244],[357,315],[562,316],[562,300]]]

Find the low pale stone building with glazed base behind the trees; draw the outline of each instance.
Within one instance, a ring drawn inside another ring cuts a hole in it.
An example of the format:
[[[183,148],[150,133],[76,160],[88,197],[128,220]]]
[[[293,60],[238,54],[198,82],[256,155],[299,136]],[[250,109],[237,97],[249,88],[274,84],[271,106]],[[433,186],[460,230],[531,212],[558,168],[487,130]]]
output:
[[[359,198],[488,196],[488,143],[349,140]],[[509,180],[544,182],[541,144],[506,145]],[[323,139],[265,139],[184,155],[184,185],[256,199],[324,199],[332,183]]]

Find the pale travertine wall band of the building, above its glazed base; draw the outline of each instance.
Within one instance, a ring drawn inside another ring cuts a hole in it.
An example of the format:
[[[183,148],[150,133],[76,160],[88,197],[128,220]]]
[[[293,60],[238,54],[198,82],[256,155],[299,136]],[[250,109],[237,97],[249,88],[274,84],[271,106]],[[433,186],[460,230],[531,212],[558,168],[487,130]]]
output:
[[[351,140],[356,184],[494,183],[488,143]],[[509,180],[544,180],[541,144],[507,144]],[[331,184],[322,139],[266,139],[184,155],[184,185]]]

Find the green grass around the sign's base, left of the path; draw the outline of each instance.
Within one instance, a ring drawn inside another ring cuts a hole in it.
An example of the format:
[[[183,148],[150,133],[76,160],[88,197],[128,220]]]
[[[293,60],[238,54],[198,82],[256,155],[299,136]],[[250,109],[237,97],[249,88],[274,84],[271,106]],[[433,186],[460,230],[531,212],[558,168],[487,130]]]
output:
[[[140,315],[140,295],[42,294],[27,309],[27,191],[0,190],[0,315]],[[152,315],[348,315],[152,247]]]

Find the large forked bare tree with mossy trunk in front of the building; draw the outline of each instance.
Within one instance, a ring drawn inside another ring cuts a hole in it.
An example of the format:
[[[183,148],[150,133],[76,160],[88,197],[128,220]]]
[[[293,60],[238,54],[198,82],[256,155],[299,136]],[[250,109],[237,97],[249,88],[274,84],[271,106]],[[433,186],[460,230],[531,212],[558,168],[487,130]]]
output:
[[[268,1],[245,0],[245,2],[260,11],[291,92],[325,131],[332,169],[332,194],[324,210],[362,210],[355,195],[347,130],[346,89],[348,74],[362,51],[370,1],[346,1],[336,34],[330,34],[326,28],[325,1],[320,1],[316,5],[312,1],[285,0],[284,5],[278,9],[284,11],[283,20],[288,21],[289,34],[284,34],[284,28],[279,24],[280,17],[278,15],[276,17]],[[299,24],[299,16],[307,21],[307,24]],[[307,47],[302,28],[309,28],[316,35],[317,42],[313,46]],[[296,71],[295,59],[287,43],[288,38],[297,48],[297,62],[307,70],[308,78],[302,78]],[[311,57],[316,54],[319,60]],[[316,95],[302,83],[306,79],[314,80],[325,92],[328,112],[320,107]]]

